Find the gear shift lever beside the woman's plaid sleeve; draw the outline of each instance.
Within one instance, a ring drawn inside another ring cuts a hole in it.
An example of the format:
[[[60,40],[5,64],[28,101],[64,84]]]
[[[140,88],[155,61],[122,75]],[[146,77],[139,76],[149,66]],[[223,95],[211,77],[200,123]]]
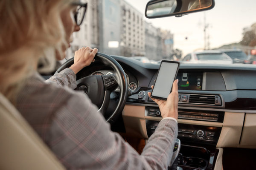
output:
[[[180,139],[175,140],[174,144],[174,149],[173,149],[173,154],[172,154],[172,159],[169,164],[168,170],[182,170],[180,167],[177,167],[177,160],[178,160],[178,155],[180,153]]]

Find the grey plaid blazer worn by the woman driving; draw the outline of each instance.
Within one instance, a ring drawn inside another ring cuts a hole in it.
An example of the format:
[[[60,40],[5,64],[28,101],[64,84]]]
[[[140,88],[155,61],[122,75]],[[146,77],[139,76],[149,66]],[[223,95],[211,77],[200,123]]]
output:
[[[87,95],[72,88],[76,75],[66,68],[45,82],[33,74],[17,96],[17,109],[67,169],[167,169],[177,137],[175,120],[160,121],[139,155],[111,131]]]

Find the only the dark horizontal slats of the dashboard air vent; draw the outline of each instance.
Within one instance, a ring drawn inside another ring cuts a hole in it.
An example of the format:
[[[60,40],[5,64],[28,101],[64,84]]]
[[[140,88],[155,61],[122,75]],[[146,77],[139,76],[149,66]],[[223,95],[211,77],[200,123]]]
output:
[[[202,95],[190,95],[189,103],[201,103],[208,105],[215,105],[215,96],[202,96]]]

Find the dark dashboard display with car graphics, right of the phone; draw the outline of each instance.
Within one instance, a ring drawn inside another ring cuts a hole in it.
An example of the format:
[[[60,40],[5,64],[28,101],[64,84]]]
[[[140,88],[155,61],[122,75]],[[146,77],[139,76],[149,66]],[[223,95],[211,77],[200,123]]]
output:
[[[177,79],[179,90],[202,90],[203,73],[179,72]]]

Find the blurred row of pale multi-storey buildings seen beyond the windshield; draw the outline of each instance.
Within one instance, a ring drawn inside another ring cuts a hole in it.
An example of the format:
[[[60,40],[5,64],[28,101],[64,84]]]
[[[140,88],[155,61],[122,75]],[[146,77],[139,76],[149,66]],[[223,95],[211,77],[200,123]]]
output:
[[[144,14],[125,0],[82,0],[87,12],[80,31],[73,34],[67,58],[82,46],[99,52],[125,57],[145,56],[160,60],[170,58],[173,34],[143,20]]]

